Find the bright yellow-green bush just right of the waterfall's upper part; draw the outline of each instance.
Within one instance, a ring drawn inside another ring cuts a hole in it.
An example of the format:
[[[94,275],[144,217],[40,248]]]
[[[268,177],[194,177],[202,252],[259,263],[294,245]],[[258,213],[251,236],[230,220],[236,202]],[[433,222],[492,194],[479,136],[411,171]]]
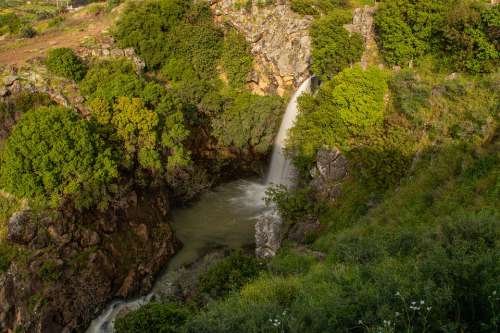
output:
[[[296,160],[312,162],[322,147],[349,151],[354,138],[380,128],[386,92],[382,71],[354,67],[326,82],[316,97],[299,99],[300,113],[289,139],[289,148],[297,151]]]

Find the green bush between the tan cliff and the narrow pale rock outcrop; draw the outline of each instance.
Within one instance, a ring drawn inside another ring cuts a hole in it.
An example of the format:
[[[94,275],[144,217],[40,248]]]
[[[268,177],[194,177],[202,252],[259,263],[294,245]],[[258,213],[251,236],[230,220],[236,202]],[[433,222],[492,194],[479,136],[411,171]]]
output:
[[[317,19],[311,27],[311,69],[322,80],[331,79],[361,59],[363,38],[357,33],[350,34],[343,27],[350,20],[349,12],[334,11]]]

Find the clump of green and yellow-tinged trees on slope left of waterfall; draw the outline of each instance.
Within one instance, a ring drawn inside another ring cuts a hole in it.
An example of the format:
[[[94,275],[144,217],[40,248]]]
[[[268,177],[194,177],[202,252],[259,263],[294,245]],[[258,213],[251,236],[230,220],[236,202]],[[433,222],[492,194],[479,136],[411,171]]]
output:
[[[188,164],[182,104],[161,84],[138,76],[130,62],[94,64],[80,88],[93,118],[121,142],[128,168],[158,172]]]

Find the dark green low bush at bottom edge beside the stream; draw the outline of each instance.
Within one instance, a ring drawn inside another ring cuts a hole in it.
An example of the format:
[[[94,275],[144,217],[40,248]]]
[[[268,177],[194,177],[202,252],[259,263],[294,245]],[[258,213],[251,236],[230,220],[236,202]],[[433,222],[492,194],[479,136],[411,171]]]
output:
[[[118,318],[116,333],[177,333],[190,312],[174,303],[150,303]]]

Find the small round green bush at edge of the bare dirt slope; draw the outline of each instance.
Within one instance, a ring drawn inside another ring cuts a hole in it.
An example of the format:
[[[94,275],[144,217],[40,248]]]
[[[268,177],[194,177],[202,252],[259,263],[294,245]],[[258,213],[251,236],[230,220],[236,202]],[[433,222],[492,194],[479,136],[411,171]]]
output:
[[[45,64],[52,73],[75,81],[83,79],[87,71],[82,60],[68,48],[50,50]]]

